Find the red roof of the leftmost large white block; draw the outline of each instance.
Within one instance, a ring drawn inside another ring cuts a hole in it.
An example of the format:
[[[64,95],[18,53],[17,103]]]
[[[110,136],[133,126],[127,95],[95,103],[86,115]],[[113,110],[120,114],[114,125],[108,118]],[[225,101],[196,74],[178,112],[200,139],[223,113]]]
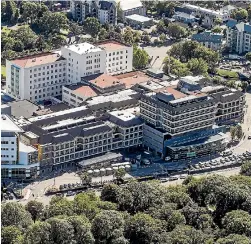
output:
[[[64,60],[60,54],[57,53],[41,53],[32,56],[26,56],[23,58],[18,58],[12,60],[14,65],[17,65],[21,68],[31,68],[35,66],[51,64],[56,61]]]

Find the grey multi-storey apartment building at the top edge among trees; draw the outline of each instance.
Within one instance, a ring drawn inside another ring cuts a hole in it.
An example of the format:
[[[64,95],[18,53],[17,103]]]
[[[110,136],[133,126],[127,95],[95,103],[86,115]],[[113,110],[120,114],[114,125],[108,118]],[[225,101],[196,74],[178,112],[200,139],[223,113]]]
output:
[[[101,24],[117,23],[116,2],[109,0],[71,1],[71,13],[75,20],[84,21],[87,17],[97,18]]]

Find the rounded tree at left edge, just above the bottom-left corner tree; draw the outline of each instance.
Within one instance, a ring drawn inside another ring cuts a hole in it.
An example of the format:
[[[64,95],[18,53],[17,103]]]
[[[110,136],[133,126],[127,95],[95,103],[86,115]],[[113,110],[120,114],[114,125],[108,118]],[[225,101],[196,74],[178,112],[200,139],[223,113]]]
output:
[[[32,224],[30,213],[16,202],[2,204],[1,209],[2,226],[16,226],[18,228],[27,228]]]

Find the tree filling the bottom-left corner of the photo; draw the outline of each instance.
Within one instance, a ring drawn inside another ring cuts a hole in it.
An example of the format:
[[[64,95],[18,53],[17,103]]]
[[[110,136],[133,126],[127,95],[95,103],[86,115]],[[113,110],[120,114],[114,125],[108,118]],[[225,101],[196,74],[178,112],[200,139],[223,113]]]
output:
[[[2,244],[17,244],[19,240],[23,238],[22,232],[16,226],[2,227],[1,243]]]

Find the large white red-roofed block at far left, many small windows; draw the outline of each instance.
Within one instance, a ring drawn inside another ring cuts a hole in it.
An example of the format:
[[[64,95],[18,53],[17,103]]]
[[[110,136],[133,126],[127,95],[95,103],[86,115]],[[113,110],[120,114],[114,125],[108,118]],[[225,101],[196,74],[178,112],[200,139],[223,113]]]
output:
[[[32,102],[62,93],[67,84],[66,60],[57,53],[42,53],[6,61],[7,94]]]

